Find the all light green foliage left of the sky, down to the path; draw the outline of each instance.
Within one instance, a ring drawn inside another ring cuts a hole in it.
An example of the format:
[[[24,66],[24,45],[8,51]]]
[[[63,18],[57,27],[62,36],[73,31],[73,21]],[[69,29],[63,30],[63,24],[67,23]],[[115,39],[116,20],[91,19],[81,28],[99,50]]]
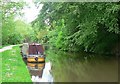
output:
[[[30,24],[16,20],[22,16],[24,2],[3,2],[2,7],[2,45],[34,41],[35,34]]]

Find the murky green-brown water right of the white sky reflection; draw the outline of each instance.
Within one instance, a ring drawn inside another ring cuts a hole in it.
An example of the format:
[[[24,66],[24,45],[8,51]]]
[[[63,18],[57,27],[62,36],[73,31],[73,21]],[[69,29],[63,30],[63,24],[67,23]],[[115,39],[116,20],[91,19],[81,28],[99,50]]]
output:
[[[118,61],[111,56],[47,51],[55,82],[117,82]]]

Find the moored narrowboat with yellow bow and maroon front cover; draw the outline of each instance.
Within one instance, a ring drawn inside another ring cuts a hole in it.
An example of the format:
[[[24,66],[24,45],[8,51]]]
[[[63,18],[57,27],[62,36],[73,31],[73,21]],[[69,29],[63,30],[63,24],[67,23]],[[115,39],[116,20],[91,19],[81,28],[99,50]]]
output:
[[[38,43],[24,43],[21,54],[28,62],[45,62],[44,48]]]

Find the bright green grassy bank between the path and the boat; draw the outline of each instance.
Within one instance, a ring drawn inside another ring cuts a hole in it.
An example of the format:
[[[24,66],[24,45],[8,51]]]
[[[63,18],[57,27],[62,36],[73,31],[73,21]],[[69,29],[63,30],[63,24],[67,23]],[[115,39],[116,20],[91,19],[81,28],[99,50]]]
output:
[[[32,82],[19,46],[2,52],[2,82]]]

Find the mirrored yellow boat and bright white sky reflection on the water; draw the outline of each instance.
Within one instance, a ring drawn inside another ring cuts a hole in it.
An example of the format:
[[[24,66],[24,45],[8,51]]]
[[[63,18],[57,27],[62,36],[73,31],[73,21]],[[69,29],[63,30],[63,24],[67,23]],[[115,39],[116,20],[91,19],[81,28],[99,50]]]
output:
[[[32,82],[53,82],[51,63],[27,63]]]

